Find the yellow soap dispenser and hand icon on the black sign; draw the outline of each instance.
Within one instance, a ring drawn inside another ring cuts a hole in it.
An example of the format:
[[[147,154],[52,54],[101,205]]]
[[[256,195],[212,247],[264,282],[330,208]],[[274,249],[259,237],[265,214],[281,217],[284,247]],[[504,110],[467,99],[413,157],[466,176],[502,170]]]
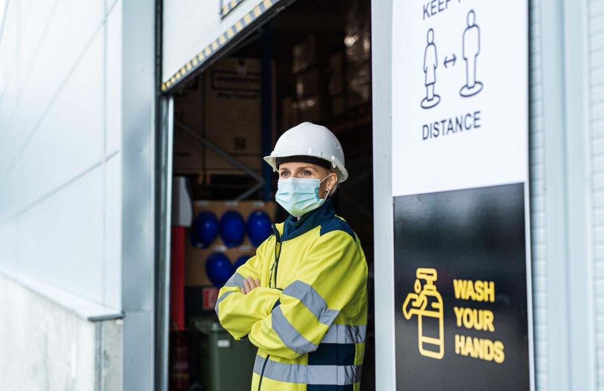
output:
[[[417,345],[420,354],[440,360],[445,355],[445,332],[443,328],[443,297],[440,296],[434,285],[436,270],[419,267],[416,270],[416,277],[413,286],[415,293],[407,295],[403,304],[403,315],[406,319],[411,319],[411,316],[417,315]],[[420,282],[422,279],[426,281],[423,287]],[[438,322],[439,337],[425,335],[424,329],[436,329],[436,322]],[[426,323],[427,327],[425,327]]]

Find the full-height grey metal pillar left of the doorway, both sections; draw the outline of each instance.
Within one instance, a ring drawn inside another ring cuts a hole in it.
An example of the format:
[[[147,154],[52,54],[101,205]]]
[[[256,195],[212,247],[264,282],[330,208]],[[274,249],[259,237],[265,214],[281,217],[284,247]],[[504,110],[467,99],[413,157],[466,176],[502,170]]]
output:
[[[122,12],[123,387],[153,390],[155,1],[124,1]]]

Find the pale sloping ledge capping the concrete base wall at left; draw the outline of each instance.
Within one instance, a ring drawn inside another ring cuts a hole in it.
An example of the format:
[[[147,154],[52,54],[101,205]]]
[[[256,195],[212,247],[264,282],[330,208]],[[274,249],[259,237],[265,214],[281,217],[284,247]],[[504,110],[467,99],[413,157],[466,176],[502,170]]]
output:
[[[33,293],[54,302],[65,311],[74,314],[80,319],[88,322],[100,322],[102,320],[121,319],[124,317],[123,311],[116,308],[106,307],[92,300],[77,296],[74,293],[55,287],[47,282],[31,278],[23,273],[15,272],[0,265],[0,275],[3,275]]]

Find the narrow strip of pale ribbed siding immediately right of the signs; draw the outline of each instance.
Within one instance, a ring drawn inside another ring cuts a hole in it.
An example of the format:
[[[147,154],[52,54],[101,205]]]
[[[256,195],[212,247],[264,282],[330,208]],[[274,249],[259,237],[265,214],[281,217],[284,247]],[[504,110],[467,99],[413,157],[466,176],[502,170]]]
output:
[[[547,390],[547,284],[541,0],[530,2],[530,203],[536,389]]]

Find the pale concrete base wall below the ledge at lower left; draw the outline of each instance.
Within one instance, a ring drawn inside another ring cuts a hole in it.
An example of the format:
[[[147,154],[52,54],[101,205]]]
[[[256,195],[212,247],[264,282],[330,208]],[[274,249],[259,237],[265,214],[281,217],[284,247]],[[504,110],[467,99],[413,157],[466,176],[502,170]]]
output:
[[[0,308],[2,390],[121,390],[121,320],[86,322],[3,275]]]

